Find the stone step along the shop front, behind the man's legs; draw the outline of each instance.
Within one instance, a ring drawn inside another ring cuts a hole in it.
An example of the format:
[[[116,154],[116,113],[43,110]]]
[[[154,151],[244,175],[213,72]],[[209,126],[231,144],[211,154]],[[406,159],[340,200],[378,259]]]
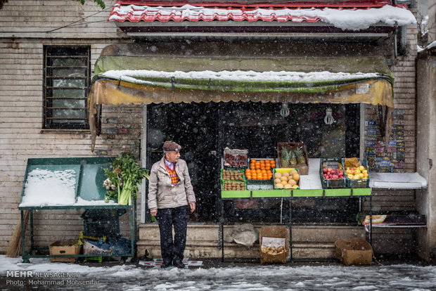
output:
[[[259,231],[261,226],[255,226]],[[233,226],[224,226],[224,236],[233,232]],[[293,233],[293,259],[333,259],[335,240],[344,238],[364,238],[361,226],[338,225],[295,225]],[[218,245],[218,224],[189,224],[186,233],[185,256],[193,259],[220,258],[222,250]],[[138,256],[145,250],[149,257],[160,257],[160,235],[158,224],[139,225]],[[224,257],[259,258],[259,245],[245,247],[236,243],[224,243]]]

